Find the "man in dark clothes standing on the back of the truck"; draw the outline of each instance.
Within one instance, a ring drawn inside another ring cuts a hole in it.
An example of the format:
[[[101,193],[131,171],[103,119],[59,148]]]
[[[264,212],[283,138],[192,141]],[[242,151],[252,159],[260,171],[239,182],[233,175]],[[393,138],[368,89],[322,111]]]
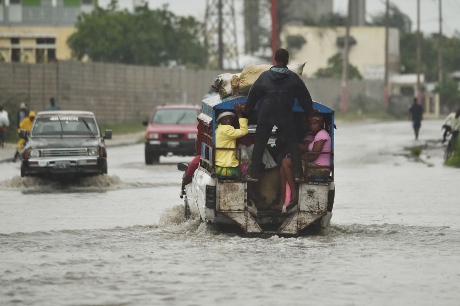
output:
[[[303,180],[300,151],[294,127],[294,106],[297,98],[307,114],[313,112],[312,99],[300,77],[287,67],[289,53],[278,49],[275,53],[276,65],[264,71],[249,90],[244,110],[249,112],[259,102],[257,110],[256,140],[252,151],[251,172],[247,180],[257,182],[264,169],[262,155],[270,138],[273,126],[281,131],[292,162],[292,171],[296,182]]]

